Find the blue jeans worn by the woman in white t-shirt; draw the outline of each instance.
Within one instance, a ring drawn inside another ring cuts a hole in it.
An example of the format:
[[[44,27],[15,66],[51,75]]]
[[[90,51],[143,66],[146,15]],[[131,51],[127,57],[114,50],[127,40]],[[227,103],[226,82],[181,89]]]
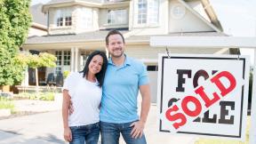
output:
[[[83,126],[70,126],[72,141],[69,144],[97,144],[100,136],[100,123]]]

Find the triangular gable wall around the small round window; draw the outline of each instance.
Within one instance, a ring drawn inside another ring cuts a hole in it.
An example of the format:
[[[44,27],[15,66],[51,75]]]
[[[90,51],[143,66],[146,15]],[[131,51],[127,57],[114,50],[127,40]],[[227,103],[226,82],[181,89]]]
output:
[[[171,0],[170,9],[169,9],[169,32],[200,32],[200,31],[215,31],[210,26],[208,26],[203,20],[196,17],[196,15],[188,9],[186,13],[181,18],[173,17],[173,5],[180,4],[176,0]],[[196,6],[194,6],[196,7]]]

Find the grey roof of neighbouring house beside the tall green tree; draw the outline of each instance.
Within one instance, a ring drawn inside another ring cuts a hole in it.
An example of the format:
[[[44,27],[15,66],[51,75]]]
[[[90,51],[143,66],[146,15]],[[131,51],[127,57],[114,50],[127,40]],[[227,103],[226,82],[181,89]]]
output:
[[[33,22],[47,26],[47,14],[44,14],[42,10],[43,4],[35,4],[29,7],[29,12],[32,15]]]

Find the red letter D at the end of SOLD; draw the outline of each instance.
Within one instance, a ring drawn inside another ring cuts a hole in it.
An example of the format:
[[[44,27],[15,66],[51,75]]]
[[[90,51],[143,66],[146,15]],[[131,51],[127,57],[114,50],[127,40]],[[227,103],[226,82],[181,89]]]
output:
[[[220,77],[226,77],[230,83],[229,87],[226,88],[221,82]],[[231,92],[236,87],[236,78],[230,74],[228,71],[222,71],[218,75],[212,77],[211,82],[216,84],[220,90],[222,97],[226,96],[228,92]]]

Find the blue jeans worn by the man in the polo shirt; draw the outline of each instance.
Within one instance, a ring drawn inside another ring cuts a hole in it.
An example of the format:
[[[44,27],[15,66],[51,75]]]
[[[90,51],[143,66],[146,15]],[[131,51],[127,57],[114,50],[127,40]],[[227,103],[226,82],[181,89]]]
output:
[[[130,126],[132,123],[115,124],[100,122],[102,144],[118,144],[120,133],[126,144],[147,144],[144,134],[141,138],[132,138],[131,132],[133,127]]]

